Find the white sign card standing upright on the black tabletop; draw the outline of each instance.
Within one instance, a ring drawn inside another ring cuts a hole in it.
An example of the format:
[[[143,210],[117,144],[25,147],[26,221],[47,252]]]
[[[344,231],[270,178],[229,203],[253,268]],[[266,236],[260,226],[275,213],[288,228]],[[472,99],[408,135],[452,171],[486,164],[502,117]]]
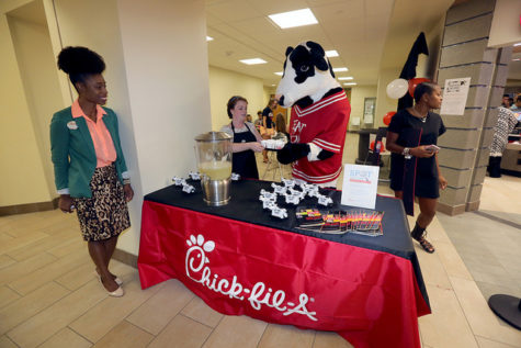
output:
[[[374,209],[380,167],[346,165],[343,168],[343,205]]]

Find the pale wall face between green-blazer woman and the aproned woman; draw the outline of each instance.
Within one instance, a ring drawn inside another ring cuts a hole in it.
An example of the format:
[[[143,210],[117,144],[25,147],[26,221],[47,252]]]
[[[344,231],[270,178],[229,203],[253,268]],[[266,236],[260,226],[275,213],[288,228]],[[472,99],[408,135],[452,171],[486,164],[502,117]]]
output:
[[[117,0],[117,13],[146,194],[195,169],[194,137],[212,127],[204,1]],[[118,248],[137,255],[138,236]]]

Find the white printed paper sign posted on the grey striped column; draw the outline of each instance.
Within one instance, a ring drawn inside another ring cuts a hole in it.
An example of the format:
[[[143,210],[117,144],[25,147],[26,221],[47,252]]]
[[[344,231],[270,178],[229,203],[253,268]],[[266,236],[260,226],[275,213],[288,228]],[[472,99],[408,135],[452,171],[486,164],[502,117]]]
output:
[[[469,87],[469,77],[446,79],[440,113],[442,115],[463,115],[465,113]]]

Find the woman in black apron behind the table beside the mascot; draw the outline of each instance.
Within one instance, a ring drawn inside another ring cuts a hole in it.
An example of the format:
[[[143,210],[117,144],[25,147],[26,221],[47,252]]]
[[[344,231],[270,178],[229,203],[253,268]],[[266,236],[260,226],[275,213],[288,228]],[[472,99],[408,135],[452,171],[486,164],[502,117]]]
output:
[[[262,137],[251,122],[246,121],[248,101],[235,96],[228,100],[227,113],[231,119],[229,124],[224,125],[220,132],[226,132],[234,137],[231,150],[231,171],[246,179],[259,179],[256,154],[264,149],[261,145]]]

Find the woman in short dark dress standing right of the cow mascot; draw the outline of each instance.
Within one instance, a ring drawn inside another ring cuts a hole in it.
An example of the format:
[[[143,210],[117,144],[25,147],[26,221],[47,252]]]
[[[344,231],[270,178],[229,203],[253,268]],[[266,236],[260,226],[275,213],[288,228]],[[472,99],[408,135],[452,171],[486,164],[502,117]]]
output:
[[[435,214],[439,189],[446,188],[446,180],[438,166],[438,137],[445,133],[441,116],[431,109],[441,106],[441,89],[435,83],[423,82],[416,87],[415,105],[400,110],[390,120],[387,132],[387,149],[390,157],[390,188],[395,197],[404,199],[404,186],[412,184],[420,205],[420,215],[411,232],[421,247],[433,252],[434,247],[426,239],[426,228]],[[412,138],[416,137],[416,141]],[[414,143],[411,143],[414,142]],[[434,145],[434,146],[431,146]],[[404,168],[416,162],[414,182],[404,182]]]

